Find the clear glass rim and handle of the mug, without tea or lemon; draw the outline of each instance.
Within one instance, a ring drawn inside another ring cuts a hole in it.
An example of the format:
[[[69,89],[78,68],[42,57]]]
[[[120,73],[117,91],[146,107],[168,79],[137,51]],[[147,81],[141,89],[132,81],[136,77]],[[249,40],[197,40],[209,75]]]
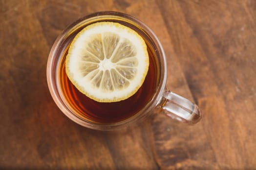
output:
[[[64,99],[64,94],[60,87],[60,80],[58,74],[60,72],[59,65],[61,57],[66,52],[68,45],[74,38],[74,36],[85,26],[101,21],[113,21],[119,22],[126,25],[137,33],[139,33],[155,52],[157,67],[158,67],[158,78],[156,81],[155,93],[152,94],[149,102],[142,107],[132,117],[114,123],[97,123],[83,119],[79,114],[75,113],[70,104]],[[185,122],[188,124],[195,124],[201,119],[201,111],[198,106],[189,100],[169,91],[166,88],[167,81],[167,63],[166,56],[161,43],[159,42],[156,35],[140,20],[131,17],[127,14],[119,12],[97,12],[85,17],[82,17],[68,26],[56,39],[53,44],[48,62],[47,62],[47,83],[51,96],[57,106],[62,112],[71,120],[76,123],[85,126],[87,128],[96,130],[111,130],[125,125],[137,122],[143,118],[147,118],[153,113],[163,113],[172,119]]]

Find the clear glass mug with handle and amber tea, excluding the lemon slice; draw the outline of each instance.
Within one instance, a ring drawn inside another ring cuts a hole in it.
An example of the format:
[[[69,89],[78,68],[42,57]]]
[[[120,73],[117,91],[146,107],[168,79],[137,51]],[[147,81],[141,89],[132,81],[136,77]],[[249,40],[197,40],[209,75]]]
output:
[[[69,81],[65,56],[74,38],[86,26],[102,21],[118,22],[135,30],[145,40],[149,52],[149,71],[140,89],[120,102],[101,103],[87,98]],[[97,12],[68,26],[53,44],[47,62],[47,83],[51,96],[71,120],[96,130],[124,127],[157,112],[172,119],[194,124],[201,119],[198,106],[166,88],[165,52],[156,35],[138,19],[119,12]]]

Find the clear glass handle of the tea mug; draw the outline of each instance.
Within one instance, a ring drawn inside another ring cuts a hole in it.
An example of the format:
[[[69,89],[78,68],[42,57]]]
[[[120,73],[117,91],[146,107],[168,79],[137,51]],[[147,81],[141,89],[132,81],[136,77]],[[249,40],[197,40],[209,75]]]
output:
[[[184,123],[195,124],[202,118],[196,104],[169,90],[165,90],[160,107],[168,117]]]

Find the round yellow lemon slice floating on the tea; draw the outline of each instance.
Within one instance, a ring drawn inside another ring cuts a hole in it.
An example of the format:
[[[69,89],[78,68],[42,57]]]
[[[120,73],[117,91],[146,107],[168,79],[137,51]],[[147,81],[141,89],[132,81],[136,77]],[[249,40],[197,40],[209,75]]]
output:
[[[149,54],[143,38],[115,22],[97,22],[79,32],[66,56],[70,81],[97,102],[128,99],[143,84]]]

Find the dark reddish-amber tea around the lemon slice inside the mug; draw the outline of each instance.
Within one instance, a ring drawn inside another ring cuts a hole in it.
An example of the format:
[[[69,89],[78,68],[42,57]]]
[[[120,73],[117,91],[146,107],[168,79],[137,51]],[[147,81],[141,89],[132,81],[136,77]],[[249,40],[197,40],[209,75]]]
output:
[[[152,52],[153,50],[149,46],[149,71],[143,85],[133,96],[120,102],[96,102],[81,93],[66,75],[65,58],[67,49],[60,61],[60,87],[66,102],[80,118],[103,124],[118,122],[134,116],[153,97],[156,91],[159,69],[156,64],[155,53]]]

